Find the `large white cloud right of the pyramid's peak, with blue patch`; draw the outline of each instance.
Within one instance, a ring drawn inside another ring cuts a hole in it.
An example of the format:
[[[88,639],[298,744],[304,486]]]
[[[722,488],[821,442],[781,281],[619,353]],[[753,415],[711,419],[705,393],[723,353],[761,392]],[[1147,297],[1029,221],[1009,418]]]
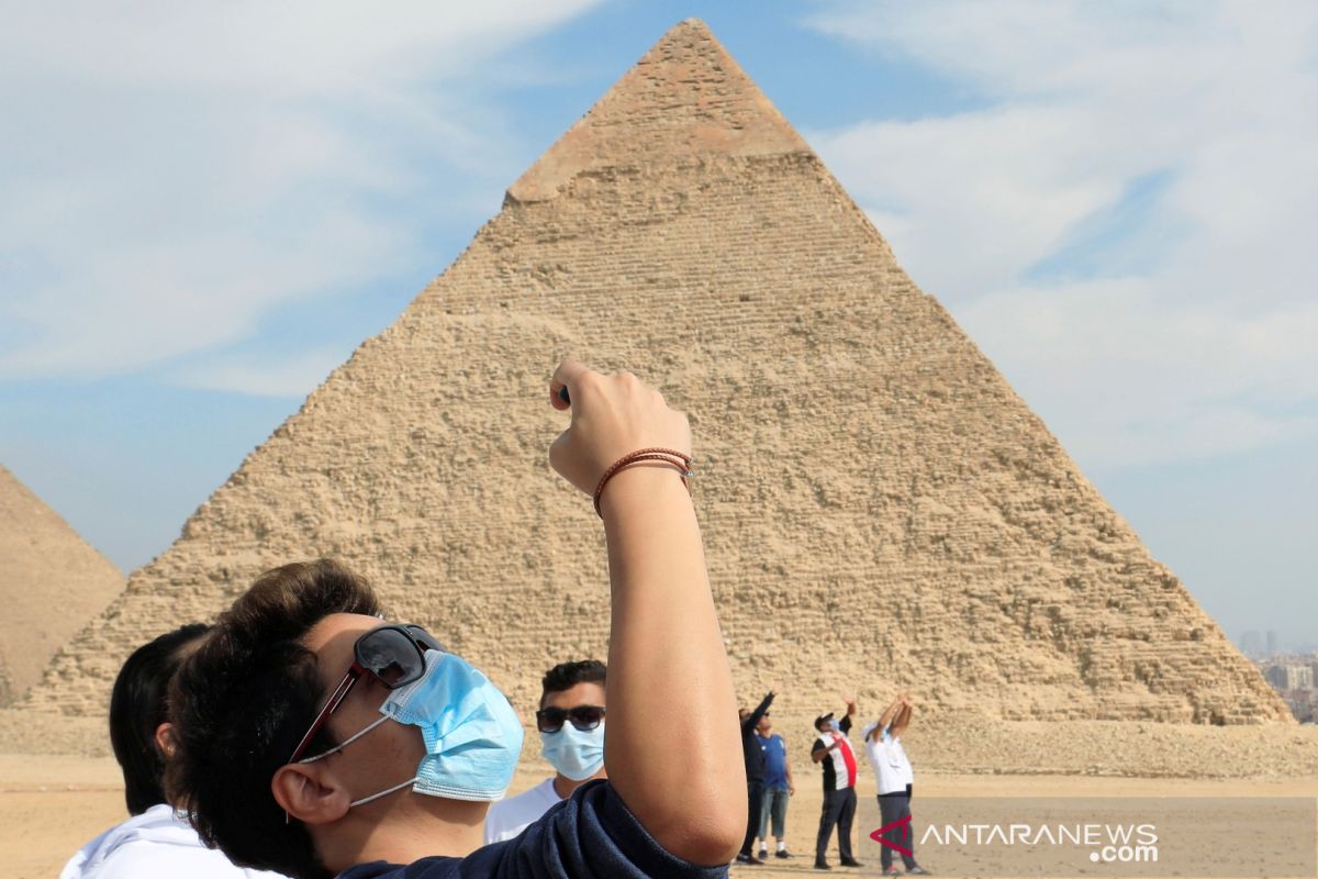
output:
[[[811,141],[1077,457],[1315,432],[1318,5],[833,3],[812,25],[977,99]]]

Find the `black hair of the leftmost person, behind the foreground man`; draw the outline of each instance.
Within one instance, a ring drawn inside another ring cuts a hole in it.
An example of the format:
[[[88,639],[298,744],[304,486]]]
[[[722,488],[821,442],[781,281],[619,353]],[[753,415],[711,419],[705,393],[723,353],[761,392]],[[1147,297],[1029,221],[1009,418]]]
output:
[[[169,718],[169,683],[187,648],[210,626],[199,622],[148,642],[119,669],[109,695],[109,746],[124,770],[124,800],[129,814],[165,803],[165,755],[156,729]]]

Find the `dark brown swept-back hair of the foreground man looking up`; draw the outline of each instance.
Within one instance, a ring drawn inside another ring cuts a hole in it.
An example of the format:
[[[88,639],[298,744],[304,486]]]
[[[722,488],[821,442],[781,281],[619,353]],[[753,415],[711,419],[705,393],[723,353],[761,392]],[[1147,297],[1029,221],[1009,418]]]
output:
[[[333,613],[378,615],[380,602],[362,577],[330,559],[268,571],[174,677],[166,788],[202,839],[240,867],[331,875],[306,826],[285,820],[270,779],[320,708],[316,654],[301,639]],[[335,745],[327,726],[311,750]]]

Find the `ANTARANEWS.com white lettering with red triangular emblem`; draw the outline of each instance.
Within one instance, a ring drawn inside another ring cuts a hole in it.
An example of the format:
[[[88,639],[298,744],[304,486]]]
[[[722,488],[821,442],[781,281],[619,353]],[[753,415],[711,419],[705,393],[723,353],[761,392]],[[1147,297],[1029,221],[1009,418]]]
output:
[[[880,846],[911,854],[911,816],[870,834]],[[929,825],[920,846],[1075,846],[1091,863],[1157,863],[1157,828],[1152,824],[944,824]]]

